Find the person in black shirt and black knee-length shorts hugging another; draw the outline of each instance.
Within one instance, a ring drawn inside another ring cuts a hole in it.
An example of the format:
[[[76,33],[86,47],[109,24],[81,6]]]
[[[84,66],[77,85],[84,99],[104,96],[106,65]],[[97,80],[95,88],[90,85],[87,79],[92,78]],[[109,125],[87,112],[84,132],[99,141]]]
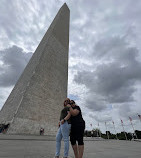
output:
[[[70,101],[70,105],[67,105],[71,113],[71,133],[70,141],[74,151],[75,158],[82,158],[84,152],[84,130],[85,121],[83,120],[81,109],[75,104],[74,100]],[[78,142],[78,145],[76,144]]]

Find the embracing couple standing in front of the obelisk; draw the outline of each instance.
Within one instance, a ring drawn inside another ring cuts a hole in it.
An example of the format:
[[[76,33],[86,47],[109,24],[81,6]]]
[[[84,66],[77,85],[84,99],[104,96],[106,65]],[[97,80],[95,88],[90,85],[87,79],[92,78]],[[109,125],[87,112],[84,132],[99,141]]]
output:
[[[56,135],[55,158],[59,158],[60,156],[62,138],[64,140],[63,158],[68,158],[69,135],[75,158],[82,158],[84,152],[84,130],[85,121],[83,120],[80,107],[75,104],[75,101],[67,98],[64,101],[64,108],[62,109],[60,114],[59,128]]]

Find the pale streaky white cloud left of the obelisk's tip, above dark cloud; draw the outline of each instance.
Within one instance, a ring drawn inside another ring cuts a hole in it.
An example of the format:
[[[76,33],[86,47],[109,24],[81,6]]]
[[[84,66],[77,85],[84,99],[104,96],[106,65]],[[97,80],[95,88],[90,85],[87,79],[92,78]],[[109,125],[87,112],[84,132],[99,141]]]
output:
[[[2,1],[0,34],[4,34],[1,42],[3,48],[7,47],[7,41],[9,41],[8,45],[12,42],[26,50],[34,51],[59,6],[61,2],[56,4],[55,1]]]

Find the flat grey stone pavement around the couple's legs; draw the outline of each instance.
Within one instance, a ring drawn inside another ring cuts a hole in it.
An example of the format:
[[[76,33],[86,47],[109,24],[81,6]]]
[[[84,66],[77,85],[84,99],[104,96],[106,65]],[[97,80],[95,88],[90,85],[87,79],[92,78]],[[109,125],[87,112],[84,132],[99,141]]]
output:
[[[63,156],[63,142],[61,156]],[[0,158],[53,158],[52,136],[0,135]],[[74,158],[70,146],[70,158]],[[139,158],[141,142],[85,138],[84,158]]]

